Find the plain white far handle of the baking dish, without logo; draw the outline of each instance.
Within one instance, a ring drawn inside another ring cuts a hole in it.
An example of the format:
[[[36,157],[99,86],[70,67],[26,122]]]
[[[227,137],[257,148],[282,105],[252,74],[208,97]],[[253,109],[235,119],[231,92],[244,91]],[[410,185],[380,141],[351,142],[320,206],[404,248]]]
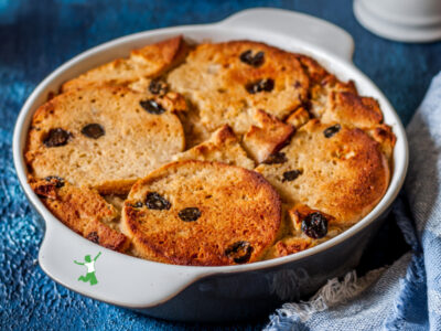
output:
[[[219,22],[225,26],[275,31],[278,34],[295,36],[327,51],[341,60],[352,62],[354,40],[343,29],[324,20],[282,9],[255,8],[240,11]]]

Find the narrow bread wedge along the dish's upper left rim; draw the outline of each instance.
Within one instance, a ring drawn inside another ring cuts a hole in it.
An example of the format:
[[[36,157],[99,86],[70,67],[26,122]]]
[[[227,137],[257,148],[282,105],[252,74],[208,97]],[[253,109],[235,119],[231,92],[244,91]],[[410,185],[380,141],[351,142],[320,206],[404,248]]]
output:
[[[142,79],[158,77],[182,62],[189,46],[182,35],[133,50],[128,58],[118,58],[93,68],[63,84],[62,92],[90,85],[128,85]],[[148,81],[150,86],[151,79]],[[135,85],[137,86],[137,85]]]

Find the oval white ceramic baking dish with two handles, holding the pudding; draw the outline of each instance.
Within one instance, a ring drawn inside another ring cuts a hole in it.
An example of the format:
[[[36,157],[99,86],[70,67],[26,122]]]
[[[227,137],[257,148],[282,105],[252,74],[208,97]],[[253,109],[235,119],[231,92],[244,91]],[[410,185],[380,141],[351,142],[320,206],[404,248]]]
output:
[[[174,266],[142,260],[100,247],[63,225],[42,204],[26,182],[23,147],[34,110],[51,92],[78,74],[132,49],[183,34],[196,42],[254,40],[312,55],[341,79],[352,78],[361,94],[378,99],[397,136],[394,173],[386,195],[359,223],[311,249],[266,261],[226,267]],[[383,93],[352,63],[348,33],[325,21],[291,11],[251,9],[206,25],[186,25],[136,33],[94,47],[47,76],[24,104],[13,136],[13,157],[20,183],[42,215],[45,235],[39,253],[41,268],[55,281],[105,302],[147,314],[185,321],[226,321],[262,316],[284,300],[314,292],[326,279],[355,267],[385,218],[405,180],[408,147],[402,125]],[[98,284],[78,281],[85,274],[74,264],[95,256]]]

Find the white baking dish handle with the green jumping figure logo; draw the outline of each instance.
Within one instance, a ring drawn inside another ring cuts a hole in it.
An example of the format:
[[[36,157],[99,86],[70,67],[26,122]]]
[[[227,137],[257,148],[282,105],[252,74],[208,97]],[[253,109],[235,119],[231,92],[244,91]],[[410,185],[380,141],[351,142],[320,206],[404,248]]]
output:
[[[150,308],[173,298],[206,274],[197,267],[140,261],[73,234],[51,214],[44,218],[40,266],[52,279],[82,295],[128,308]],[[88,267],[85,263],[89,259],[96,260]]]

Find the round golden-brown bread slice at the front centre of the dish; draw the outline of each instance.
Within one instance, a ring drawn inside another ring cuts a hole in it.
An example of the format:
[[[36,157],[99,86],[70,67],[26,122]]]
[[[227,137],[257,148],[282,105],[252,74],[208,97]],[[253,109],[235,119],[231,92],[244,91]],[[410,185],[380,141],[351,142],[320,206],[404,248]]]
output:
[[[135,254],[178,265],[256,261],[277,237],[280,221],[280,197],[263,177],[194,160],[138,181],[122,210]]]

